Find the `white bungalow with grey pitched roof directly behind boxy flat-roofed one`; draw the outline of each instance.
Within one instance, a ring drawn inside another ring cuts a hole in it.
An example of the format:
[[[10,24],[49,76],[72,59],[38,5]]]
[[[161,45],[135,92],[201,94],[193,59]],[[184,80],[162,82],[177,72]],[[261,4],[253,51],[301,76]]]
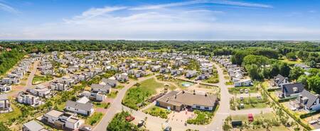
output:
[[[82,115],[91,115],[95,110],[91,101],[87,97],[82,97],[78,101],[67,101],[65,110]]]

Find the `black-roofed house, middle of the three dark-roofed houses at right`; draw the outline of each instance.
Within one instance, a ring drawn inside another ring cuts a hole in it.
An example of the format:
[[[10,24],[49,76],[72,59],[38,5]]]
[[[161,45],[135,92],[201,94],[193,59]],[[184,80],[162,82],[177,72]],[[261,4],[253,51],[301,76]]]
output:
[[[280,97],[298,96],[299,93],[304,91],[304,84],[281,84],[281,91],[282,92],[279,93]]]

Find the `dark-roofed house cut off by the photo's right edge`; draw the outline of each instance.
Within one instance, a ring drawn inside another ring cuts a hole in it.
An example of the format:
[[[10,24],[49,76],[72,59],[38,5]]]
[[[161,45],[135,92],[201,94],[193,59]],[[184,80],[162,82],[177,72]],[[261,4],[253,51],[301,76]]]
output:
[[[320,110],[320,96],[318,94],[304,90],[297,97],[296,102],[299,104],[299,107],[304,110]]]

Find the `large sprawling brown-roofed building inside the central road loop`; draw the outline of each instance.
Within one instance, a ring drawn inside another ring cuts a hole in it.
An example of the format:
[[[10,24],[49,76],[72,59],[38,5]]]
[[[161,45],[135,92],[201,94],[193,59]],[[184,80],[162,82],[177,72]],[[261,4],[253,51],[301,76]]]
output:
[[[218,104],[217,96],[200,94],[193,91],[171,91],[156,100],[156,105],[169,110],[183,110],[184,108],[195,108],[200,110],[213,110]]]

